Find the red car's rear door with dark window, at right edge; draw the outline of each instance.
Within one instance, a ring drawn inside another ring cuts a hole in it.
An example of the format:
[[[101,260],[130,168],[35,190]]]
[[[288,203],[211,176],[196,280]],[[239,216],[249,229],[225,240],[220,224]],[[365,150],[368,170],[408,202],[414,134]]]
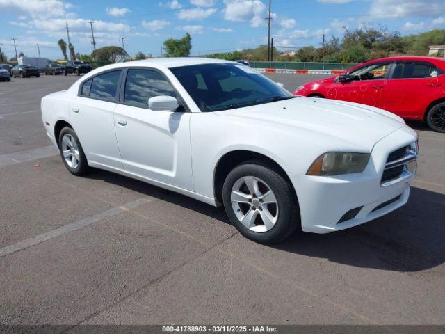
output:
[[[397,61],[382,92],[382,109],[423,119],[427,106],[443,96],[442,70],[426,61]]]

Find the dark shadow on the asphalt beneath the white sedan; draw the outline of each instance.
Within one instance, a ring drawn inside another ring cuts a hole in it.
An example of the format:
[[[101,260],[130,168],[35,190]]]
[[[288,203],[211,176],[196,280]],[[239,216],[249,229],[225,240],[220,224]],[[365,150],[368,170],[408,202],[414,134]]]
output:
[[[212,207],[193,198],[129,177],[92,170],[88,178],[104,180],[173,205],[191,209],[231,225],[223,207]],[[445,195],[416,187],[404,207],[355,228],[329,234],[296,232],[279,250],[354,267],[389,271],[423,271],[445,262]]]

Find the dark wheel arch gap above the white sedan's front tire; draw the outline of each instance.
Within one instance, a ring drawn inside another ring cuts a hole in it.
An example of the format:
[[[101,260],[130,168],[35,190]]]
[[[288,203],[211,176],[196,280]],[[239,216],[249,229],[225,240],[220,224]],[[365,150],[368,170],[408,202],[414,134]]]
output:
[[[284,177],[284,180],[289,182],[289,184],[291,185],[294,199],[296,200],[296,203],[298,205],[298,196],[296,193],[296,189],[293,187],[293,184],[284,168],[282,168],[282,166],[278,164],[277,161],[275,161],[274,159],[271,159],[270,157],[267,157],[262,153],[254,152],[252,150],[232,150],[226,152],[216,163],[216,166],[213,170],[213,194],[215,196],[217,205],[220,205],[220,203],[223,202],[223,184],[230,171],[239,164],[251,160],[259,161],[261,164],[272,168],[282,177]]]

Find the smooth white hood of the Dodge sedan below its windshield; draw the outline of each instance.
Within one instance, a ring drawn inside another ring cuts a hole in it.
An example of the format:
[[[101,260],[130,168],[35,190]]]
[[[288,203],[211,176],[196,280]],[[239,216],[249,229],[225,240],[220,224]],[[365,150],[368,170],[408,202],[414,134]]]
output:
[[[218,111],[217,115],[273,122],[316,132],[343,142],[355,143],[371,152],[375,143],[392,132],[406,127],[398,116],[363,104],[311,97],[297,97],[280,102]]]

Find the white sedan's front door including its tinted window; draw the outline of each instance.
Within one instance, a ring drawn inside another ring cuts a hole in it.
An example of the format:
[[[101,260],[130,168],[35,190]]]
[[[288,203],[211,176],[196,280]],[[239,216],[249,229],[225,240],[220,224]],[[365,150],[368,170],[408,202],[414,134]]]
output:
[[[126,72],[120,104],[115,109],[115,131],[124,169],[192,190],[191,113],[184,109],[150,110],[150,97],[170,95],[181,99],[159,70],[133,67]]]

